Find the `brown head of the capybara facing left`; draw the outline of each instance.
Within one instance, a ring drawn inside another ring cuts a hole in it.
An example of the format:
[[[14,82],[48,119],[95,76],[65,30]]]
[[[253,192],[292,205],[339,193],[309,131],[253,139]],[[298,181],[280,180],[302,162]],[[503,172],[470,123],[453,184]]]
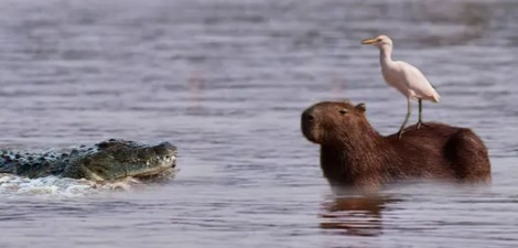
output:
[[[301,117],[302,133],[319,144],[332,144],[343,139],[356,138],[367,125],[365,104],[322,101],[304,110]]]

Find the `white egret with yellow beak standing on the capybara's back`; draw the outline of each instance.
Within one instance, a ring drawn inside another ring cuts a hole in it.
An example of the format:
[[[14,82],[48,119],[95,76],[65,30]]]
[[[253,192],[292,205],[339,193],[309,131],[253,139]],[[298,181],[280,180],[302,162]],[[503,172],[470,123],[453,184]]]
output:
[[[399,129],[399,138],[401,138],[404,126],[410,118],[410,114],[412,111],[411,101],[416,99],[419,101],[419,121],[417,123],[417,128],[419,129],[421,125],[423,125],[421,118],[421,101],[424,99],[439,103],[439,99],[441,98],[439,94],[416,66],[402,61],[392,61],[390,57],[392,54],[392,40],[390,40],[389,36],[379,35],[375,39],[366,39],[361,41],[361,44],[371,44],[379,48],[379,63],[381,64],[381,74],[384,75],[385,80],[388,85],[395,87],[407,97],[407,117]]]

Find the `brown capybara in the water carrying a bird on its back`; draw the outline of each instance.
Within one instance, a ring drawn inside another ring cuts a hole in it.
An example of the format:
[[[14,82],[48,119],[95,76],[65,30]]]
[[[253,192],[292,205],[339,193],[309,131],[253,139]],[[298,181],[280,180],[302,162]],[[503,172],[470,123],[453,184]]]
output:
[[[364,104],[323,101],[301,117],[302,133],[321,144],[321,168],[333,186],[375,190],[411,179],[489,183],[484,142],[470,129],[427,122],[379,134],[365,117]]]

